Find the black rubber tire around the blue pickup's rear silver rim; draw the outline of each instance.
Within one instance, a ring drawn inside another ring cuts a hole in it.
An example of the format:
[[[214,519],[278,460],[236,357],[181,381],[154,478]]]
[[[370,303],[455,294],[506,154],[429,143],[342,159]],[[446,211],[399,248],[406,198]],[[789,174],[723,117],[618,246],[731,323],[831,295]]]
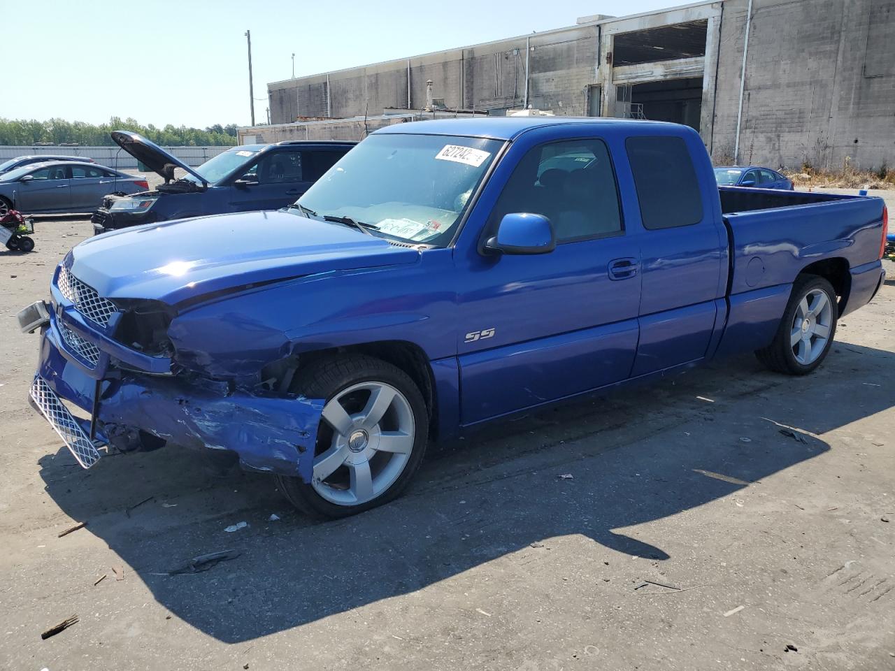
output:
[[[796,352],[793,351],[790,335],[793,331],[794,321],[798,305],[809,293],[815,290],[821,290],[827,294],[827,300],[831,305],[831,325],[830,335],[827,342],[823,346],[823,350],[819,353],[814,361],[807,365],[797,361]],[[783,311],[783,319],[780,319],[780,326],[777,327],[777,333],[774,339],[767,347],[756,350],[755,356],[758,361],[770,370],[786,375],[807,375],[826,359],[830,353],[830,347],[833,338],[836,335],[836,320],[839,319],[839,304],[836,298],[836,291],[833,286],[823,277],[816,275],[798,276],[795,284],[792,286],[792,293],[789,295],[789,302],[786,310]]]

